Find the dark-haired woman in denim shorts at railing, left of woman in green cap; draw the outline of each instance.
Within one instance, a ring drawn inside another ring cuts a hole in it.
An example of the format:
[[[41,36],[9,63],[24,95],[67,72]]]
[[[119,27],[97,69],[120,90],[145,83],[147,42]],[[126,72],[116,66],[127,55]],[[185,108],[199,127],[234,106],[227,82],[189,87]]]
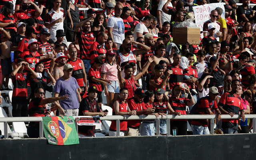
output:
[[[154,92],[148,90],[145,92],[146,96],[143,99],[143,102],[145,104],[145,108],[154,108],[153,102],[155,99]],[[147,114],[147,113],[146,113]],[[160,114],[158,113],[148,113],[153,114],[156,117],[159,117]],[[154,126],[154,120],[142,120],[142,123],[140,125],[140,136],[154,136],[155,135],[155,126]]]

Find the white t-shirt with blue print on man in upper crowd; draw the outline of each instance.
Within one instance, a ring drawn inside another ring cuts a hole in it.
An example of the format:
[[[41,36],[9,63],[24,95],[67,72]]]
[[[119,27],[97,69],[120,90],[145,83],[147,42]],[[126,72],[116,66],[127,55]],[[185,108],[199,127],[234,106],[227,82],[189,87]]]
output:
[[[108,19],[108,27],[113,28],[114,42],[122,44],[124,40],[124,21],[122,18],[112,16]]]

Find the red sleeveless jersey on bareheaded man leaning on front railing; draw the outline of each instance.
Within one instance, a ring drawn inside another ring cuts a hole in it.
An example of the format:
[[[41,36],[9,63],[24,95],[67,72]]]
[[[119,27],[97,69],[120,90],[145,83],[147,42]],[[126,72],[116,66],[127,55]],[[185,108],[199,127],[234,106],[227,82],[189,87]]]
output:
[[[124,100],[124,103],[122,103],[118,99],[117,102],[119,103],[119,112],[128,112],[128,103],[126,102],[126,100]],[[114,106],[112,108],[113,108],[112,115],[115,116],[116,112],[115,112]],[[115,120],[111,121],[109,130],[116,132],[116,121]],[[126,130],[127,130],[127,121],[120,121],[120,131],[125,132]]]

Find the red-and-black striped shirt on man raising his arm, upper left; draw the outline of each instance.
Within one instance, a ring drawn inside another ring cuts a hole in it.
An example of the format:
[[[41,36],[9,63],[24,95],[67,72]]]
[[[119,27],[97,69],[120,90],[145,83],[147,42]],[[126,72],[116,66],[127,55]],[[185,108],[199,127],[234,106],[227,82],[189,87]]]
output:
[[[94,33],[93,32],[76,32],[78,38],[79,47],[80,47],[80,58],[90,60],[90,47],[94,42]]]

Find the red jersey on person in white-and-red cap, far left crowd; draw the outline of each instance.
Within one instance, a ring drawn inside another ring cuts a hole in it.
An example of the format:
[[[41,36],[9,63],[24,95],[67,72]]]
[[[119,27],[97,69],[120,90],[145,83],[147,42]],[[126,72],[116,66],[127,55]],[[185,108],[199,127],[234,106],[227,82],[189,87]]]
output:
[[[40,54],[38,52],[36,52],[36,54],[33,56],[33,54],[30,53],[29,51],[25,51],[25,52],[22,52],[18,56],[18,58],[23,58],[25,60],[25,62],[28,62],[28,65],[30,66],[30,68],[32,70],[35,70],[36,64],[40,61]],[[26,68],[26,67],[25,67],[25,70],[30,72],[28,70],[28,68]]]

